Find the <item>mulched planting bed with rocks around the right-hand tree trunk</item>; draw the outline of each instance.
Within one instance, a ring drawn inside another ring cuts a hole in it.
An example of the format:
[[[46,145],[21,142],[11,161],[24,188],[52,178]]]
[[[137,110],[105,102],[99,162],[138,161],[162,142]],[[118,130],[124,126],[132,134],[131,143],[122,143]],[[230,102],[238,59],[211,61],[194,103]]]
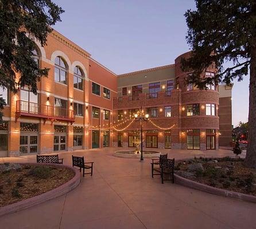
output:
[[[243,165],[243,159],[223,157],[179,161],[175,173],[211,187],[256,196],[256,169]]]

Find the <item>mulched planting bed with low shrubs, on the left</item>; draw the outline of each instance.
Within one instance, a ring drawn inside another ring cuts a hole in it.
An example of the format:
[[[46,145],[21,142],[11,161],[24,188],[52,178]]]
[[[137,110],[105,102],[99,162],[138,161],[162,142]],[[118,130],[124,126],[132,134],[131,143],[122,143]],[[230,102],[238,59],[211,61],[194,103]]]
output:
[[[74,176],[72,169],[54,165],[0,164],[0,207],[48,192]]]

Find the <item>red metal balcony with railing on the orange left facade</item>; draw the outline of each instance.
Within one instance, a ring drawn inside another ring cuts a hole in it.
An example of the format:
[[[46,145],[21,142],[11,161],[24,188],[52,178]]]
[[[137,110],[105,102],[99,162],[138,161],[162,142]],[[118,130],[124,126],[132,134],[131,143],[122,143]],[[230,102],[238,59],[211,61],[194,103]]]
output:
[[[55,120],[68,121],[71,124],[75,121],[73,110],[18,100],[16,101],[15,121],[20,116],[42,118],[44,123],[46,120],[51,120],[52,123]]]

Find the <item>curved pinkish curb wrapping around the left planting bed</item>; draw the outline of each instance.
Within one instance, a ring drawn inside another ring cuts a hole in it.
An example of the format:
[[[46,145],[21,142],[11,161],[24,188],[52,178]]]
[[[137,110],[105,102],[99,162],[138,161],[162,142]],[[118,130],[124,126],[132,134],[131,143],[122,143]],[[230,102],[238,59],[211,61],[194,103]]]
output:
[[[17,212],[20,210],[24,210],[26,208],[35,206],[37,204],[41,204],[46,202],[47,200],[51,200],[57,198],[61,195],[67,194],[67,192],[71,191],[72,189],[76,188],[77,185],[80,184],[80,172],[79,170],[69,166],[69,165],[61,165],[61,164],[48,164],[48,163],[18,163],[18,164],[28,164],[28,165],[51,165],[56,167],[65,167],[72,169],[75,172],[75,176],[69,180],[67,183],[60,185],[59,187],[52,189],[51,191],[45,192],[44,194],[33,196],[32,198],[21,200],[20,202],[10,204],[5,207],[0,208],[0,216],[10,214],[13,212]]]

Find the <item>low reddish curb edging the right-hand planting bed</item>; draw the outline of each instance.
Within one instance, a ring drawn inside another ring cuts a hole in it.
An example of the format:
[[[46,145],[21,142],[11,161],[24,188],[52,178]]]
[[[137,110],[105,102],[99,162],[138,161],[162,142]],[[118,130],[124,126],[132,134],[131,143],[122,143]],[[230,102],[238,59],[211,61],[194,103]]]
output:
[[[186,179],[182,176],[174,174],[174,181],[176,184],[183,185],[188,188],[194,188],[203,192],[209,192],[210,194],[215,194],[224,197],[236,198],[239,200],[244,200],[247,202],[256,203],[256,196],[246,195],[239,192],[232,192],[220,188],[211,187],[209,185],[201,184],[193,180]]]

